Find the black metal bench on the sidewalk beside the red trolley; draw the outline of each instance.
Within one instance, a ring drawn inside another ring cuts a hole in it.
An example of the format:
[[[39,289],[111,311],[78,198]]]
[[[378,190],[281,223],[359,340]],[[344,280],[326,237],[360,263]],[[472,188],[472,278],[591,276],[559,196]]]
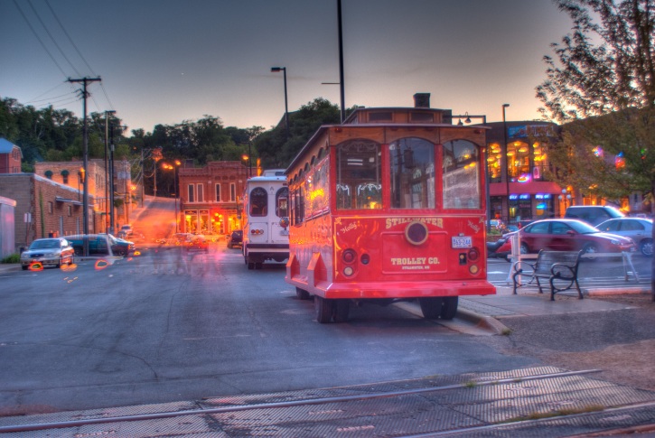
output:
[[[571,289],[575,284],[577,295],[582,300],[582,291],[580,284],[577,283],[577,267],[580,265],[580,257],[582,251],[539,251],[537,261],[535,263],[527,263],[521,261],[514,266],[515,272],[511,276],[514,281],[514,294],[516,288],[521,285],[531,284],[533,281],[537,282],[539,294],[543,294],[539,278],[547,278],[550,283],[550,301],[555,301],[555,294],[562,291]],[[531,271],[526,271],[522,265],[528,265]],[[527,280],[527,284],[522,284],[523,280]]]

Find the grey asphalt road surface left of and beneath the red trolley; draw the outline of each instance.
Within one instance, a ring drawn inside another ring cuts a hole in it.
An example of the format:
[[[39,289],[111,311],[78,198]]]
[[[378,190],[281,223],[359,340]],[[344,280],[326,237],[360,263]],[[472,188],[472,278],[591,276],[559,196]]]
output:
[[[140,405],[496,371],[538,360],[401,307],[319,324],[283,264],[248,271],[224,241],[209,254],[153,247],[65,272],[0,275],[0,414]]]

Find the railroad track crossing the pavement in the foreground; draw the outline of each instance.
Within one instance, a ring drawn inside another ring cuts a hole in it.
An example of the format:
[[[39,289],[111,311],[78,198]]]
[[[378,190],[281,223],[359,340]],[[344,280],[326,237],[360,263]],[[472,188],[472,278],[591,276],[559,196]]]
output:
[[[584,436],[655,430],[655,393],[554,367],[0,418],[3,436]]]

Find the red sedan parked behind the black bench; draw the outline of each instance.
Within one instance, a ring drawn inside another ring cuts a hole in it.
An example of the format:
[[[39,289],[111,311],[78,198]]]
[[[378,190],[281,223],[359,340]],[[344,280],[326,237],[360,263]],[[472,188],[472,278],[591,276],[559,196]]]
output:
[[[538,253],[540,249],[580,251],[584,254],[636,251],[631,238],[601,232],[577,219],[543,219],[519,231],[521,254]]]

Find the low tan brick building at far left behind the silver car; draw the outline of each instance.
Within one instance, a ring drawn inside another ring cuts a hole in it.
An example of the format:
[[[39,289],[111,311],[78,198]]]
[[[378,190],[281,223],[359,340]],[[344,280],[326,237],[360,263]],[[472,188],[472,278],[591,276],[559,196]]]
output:
[[[77,189],[34,173],[6,173],[0,174],[0,196],[16,202],[16,249],[36,238],[83,232],[82,194]],[[99,224],[93,223],[97,218],[89,214],[89,232],[98,232],[94,230]]]

